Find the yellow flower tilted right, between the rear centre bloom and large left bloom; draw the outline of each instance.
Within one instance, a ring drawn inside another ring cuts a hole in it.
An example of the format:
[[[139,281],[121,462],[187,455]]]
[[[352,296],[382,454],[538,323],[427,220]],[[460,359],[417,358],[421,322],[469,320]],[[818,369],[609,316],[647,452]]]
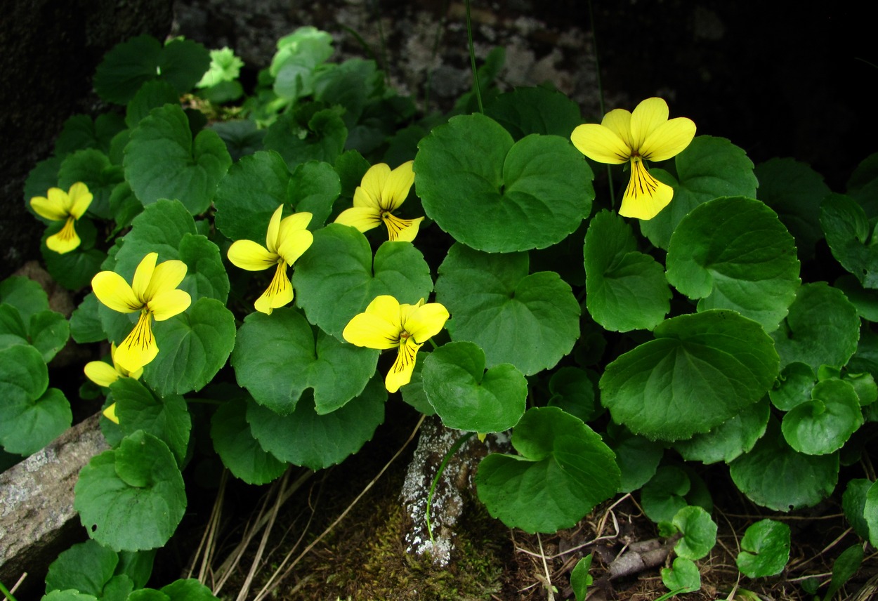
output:
[[[256,311],[266,315],[292,301],[292,284],[286,276],[286,267],[299,259],[314,241],[313,234],[306,230],[311,223],[311,213],[295,213],[281,219],[283,211],[281,204],[271,216],[265,247],[253,240],[237,240],[228,248],[228,260],[241,269],[262,271],[276,266],[268,290],[254,304]]]

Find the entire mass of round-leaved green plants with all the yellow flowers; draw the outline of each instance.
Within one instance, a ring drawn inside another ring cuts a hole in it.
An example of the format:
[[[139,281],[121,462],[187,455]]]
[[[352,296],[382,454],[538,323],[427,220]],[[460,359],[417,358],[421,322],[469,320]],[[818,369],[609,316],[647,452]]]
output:
[[[399,399],[464,433],[511,429],[516,454],[476,478],[507,526],[555,532],[639,491],[679,538],[672,591],[699,588],[716,544],[698,464],[789,512],[859,463],[843,505],[878,544],[878,154],[839,193],[792,159],[754,167],[659,98],[584,125],[551,87],[501,93],[501,51],[426,116],[374,61],[332,54],[301,28],[245,95],[227,49],[128,40],[94,80],[112,110],[68,119],[29,176],[47,269],[83,296],[68,321],[37,284],[0,284],[6,453],[70,425],[47,369],[68,338],[109,343],[80,390],[105,397],[112,446],[76,484],[91,540],[45,599],[215,598],[145,588],[184,515],[193,426],[269,483],[356,453]],[[824,244],[838,279],[802,281]],[[778,574],[789,544],[757,522],[738,568]]]

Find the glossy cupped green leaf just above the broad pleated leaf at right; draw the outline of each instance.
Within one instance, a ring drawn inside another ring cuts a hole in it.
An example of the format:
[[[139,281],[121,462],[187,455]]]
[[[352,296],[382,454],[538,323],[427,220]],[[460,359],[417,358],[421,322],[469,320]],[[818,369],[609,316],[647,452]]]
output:
[[[723,197],[694,207],[671,236],[667,281],[698,311],[731,309],[777,329],[795,299],[799,261],[787,228],[758,200]]]

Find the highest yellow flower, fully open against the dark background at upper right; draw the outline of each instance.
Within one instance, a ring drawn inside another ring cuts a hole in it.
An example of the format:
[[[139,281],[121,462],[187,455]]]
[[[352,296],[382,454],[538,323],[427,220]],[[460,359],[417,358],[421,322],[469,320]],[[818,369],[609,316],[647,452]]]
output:
[[[667,118],[661,98],[647,98],[634,112],[609,111],[601,125],[579,125],[570,135],[573,146],[589,159],[611,165],[631,162],[631,179],[619,214],[651,219],[673,198],[673,188],[646,170],[644,161],[666,161],[680,154],[695,136],[695,124],[685,117]]]

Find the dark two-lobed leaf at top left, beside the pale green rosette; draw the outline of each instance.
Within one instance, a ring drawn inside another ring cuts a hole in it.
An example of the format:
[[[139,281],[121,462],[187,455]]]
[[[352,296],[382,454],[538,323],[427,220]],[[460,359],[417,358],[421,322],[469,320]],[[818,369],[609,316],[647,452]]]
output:
[[[149,35],[117,44],[95,72],[95,91],[113,104],[126,104],[145,82],[162,79],[178,93],[192,89],[207,68],[207,49],[191,39],[172,39],[166,45]]]

